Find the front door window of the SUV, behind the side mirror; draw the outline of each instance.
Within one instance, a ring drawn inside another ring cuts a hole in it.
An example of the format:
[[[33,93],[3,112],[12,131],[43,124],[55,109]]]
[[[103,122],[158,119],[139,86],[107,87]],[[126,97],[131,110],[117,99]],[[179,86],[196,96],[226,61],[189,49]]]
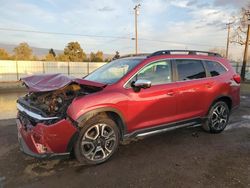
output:
[[[170,61],[151,63],[141,69],[126,85],[130,87],[136,80],[149,80],[152,85],[170,83],[172,81]]]

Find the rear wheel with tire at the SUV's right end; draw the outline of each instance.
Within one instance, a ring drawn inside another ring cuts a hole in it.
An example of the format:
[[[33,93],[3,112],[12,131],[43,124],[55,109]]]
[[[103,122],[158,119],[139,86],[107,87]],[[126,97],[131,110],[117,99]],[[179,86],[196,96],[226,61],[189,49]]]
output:
[[[212,105],[209,110],[207,119],[202,124],[205,131],[210,133],[222,132],[229,120],[230,110],[224,101],[218,101]]]

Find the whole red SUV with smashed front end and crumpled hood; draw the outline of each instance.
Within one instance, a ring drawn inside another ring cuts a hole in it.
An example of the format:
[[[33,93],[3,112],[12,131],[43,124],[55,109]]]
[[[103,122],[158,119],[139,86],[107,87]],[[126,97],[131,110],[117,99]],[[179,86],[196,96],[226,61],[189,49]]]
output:
[[[187,126],[223,131],[240,103],[240,77],[219,54],[157,51],[114,60],[83,79],[61,74],[22,79],[17,101],[21,150],[37,158],[74,152],[107,161],[120,141]]]

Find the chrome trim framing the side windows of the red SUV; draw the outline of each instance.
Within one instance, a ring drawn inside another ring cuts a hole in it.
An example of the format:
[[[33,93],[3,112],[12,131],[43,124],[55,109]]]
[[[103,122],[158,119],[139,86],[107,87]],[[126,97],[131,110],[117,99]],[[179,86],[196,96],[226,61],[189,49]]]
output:
[[[205,58],[183,58],[183,57],[181,57],[181,58],[164,58],[164,59],[158,59],[158,60],[156,60],[156,61],[152,61],[152,62],[150,62],[149,64],[146,64],[146,65],[144,65],[140,70],[138,70],[135,74],[133,74],[133,76],[131,76],[126,82],[125,82],[125,84],[123,84],[123,88],[124,89],[130,89],[131,87],[129,87],[129,88],[126,88],[125,86],[127,85],[127,83],[138,73],[138,72],[140,72],[144,67],[146,67],[147,65],[150,65],[151,63],[155,63],[155,62],[158,62],[158,61],[161,61],[161,60],[170,60],[170,61],[172,61],[172,60],[175,60],[175,59],[188,59],[188,60],[200,60],[200,61],[202,61],[202,62],[204,62],[204,61],[213,61],[213,62],[216,62],[216,63],[219,63],[221,66],[223,66],[225,69],[226,69],[226,72],[228,72],[229,71],[229,69],[225,66],[225,65],[223,65],[221,62],[219,62],[219,61],[216,61],[216,60],[209,60],[209,59],[205,59]],[[204,62],[205,63],[205,62]],[[171,70],[172,71],[172,70]],[[172,75],[173,75],[173,73],[172,73]],[[221,76],[221,75],[217,75],[217,76]],[[213,77],[216,77],[216,76],[213,76]],[[188,81],[194,81],[194,80],[203,80],[203,79],[207,79],[207,78],[213,78],[212,76],[211,77],[205,77],[205,78],[198,78],[198,79],[192,79],[192,80],[177,80],[177,81],[175,81],[174,83],[178,83],[178,82],[188,82]],[[173,81],[171,82],[171,83],[173,83]],[[170,84],[170,83],[165,83],[165,84]],[[163,85],[163,84],[157,84],[157,85]],[[156,86],[156,85],[155,85]]]

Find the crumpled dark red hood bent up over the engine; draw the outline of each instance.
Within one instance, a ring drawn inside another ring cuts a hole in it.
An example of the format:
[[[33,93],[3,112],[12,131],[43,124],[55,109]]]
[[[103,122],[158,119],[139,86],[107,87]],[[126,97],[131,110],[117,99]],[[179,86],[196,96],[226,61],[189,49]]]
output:
[[[29,92],[45,92],[63,88],[71,83],[103,88],[106,84],[65,76],[63,74],[40,74],[20,79]]]

